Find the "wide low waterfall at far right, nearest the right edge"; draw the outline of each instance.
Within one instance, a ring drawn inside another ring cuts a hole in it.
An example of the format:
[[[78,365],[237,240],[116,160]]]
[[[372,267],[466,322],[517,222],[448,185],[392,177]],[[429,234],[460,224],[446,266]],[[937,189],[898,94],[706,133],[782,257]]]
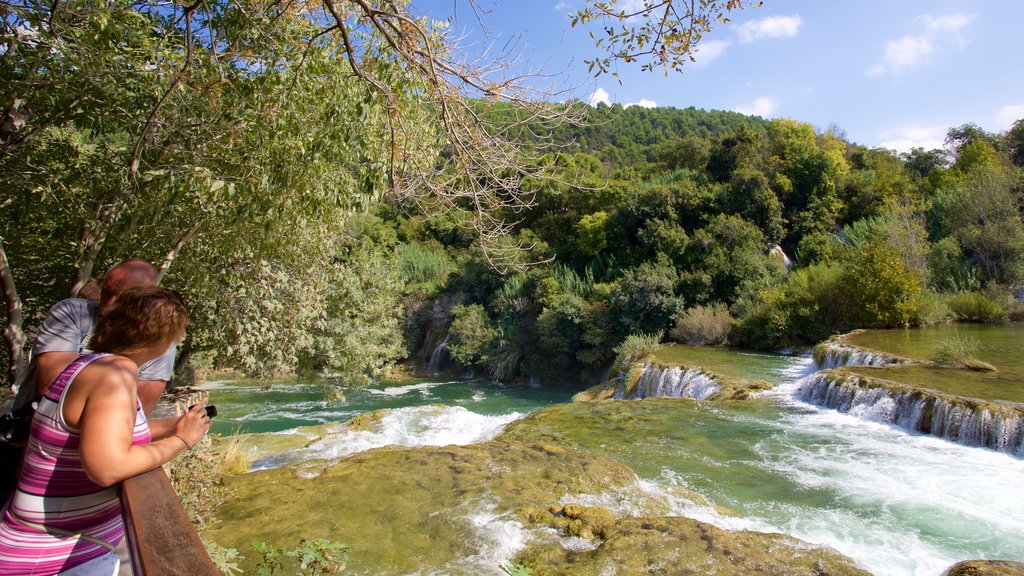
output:
[[[1024,456],[1024,406],[1020,404],[883,387],[856,376],[829,372],[805,378],[795,396],[810,404],[910,431]]]

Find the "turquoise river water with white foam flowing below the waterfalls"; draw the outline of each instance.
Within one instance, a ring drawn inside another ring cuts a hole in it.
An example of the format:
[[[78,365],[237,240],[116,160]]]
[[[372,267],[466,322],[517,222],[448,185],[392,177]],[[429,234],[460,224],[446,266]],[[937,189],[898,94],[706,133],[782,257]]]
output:
[[[259,392],[252,383],[217,382],[210,395],[223,431],[287,434],[388,409],[375,430],[332,431],[256,467],[380,446],[482,442],[511,425],[527,440],[610,456],[639,477],[628,493],[565,501],[782,532],[829,545],[879,575],[938,576],[969,559],[1024,561],[1024,460],[798,402],[792,390],[813,371],[808,358],[745,355],[737,364],[746,377],[777,386],[746,402],[572,406],[564,404],[571,389],[478,380],[380,386],[348,393],[341,403],[325,403],[316,386],[301,383]],[[536,423],[517,421],[538,410]],[[528,540],[514,522],[480,530],[493,532],[481,536],[483,547],[494,547],[481,549],[485,567]]]

